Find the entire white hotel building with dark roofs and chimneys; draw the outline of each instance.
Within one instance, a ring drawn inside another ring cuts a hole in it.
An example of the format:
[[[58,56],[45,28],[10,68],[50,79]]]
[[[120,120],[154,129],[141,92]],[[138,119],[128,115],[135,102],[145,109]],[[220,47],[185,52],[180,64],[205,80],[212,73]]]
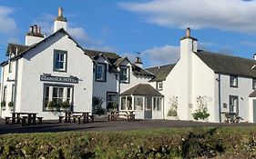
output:
[[[178,118],[192,120],[201,97],[209,122],[223,122],[223,113],[230,112],[256,123],[256,61],[204,52],[197,44],[187,29],[177,64],[143,69],[140,58],[132,63],[78,45],[67,33],[67,19],[59,8],[52,35],[45,37],[34,25],[25,45],[8,45],[8,59],[1,64],[0,117],[37,112],[55,119],[61,112],[50,111],[50,102],[68,102],[68,109],[92,112],[95,96],[103,99],[104,108],[117,104],[142,119],[168,118],[169,99],[176,99]]]

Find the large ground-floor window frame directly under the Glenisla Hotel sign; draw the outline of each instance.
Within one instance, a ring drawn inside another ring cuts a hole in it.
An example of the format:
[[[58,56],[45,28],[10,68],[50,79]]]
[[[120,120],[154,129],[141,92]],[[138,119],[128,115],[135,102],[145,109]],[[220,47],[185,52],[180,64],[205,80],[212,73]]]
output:
[[[50,83],[45,83],[44,84],[44,91],[43,91],[43,112],[50,112],[52,111],[51,109],[47,109],[46,107],[46,87],[49,87],[49,92],[48,92],[48,101],[53,101],[53,88],[54,87],[63,87],[64,90],[63,90],[63,99],[64,99],[64,102],[67,101],[67,91],[65,91],[65,89],[67,88],[71,88],[70,89],[70,97],[69,97],[69,104],[70,104],[70,108],[73,109],[74,107],[74,85],[72,84],[50,84]],[[52,88],[50,88],[52,87]],[[51,96],[50,96],[51,95]],[[60,112],[62,110],[60,109]]]

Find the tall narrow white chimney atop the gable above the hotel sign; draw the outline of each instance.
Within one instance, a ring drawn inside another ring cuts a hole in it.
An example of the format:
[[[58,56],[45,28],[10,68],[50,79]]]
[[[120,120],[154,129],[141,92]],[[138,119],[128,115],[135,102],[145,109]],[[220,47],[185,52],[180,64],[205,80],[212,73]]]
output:
[[[63,16],[63,8],[59,7],[54,22],[54,33],[61,28],[67,30],[67,19]]]

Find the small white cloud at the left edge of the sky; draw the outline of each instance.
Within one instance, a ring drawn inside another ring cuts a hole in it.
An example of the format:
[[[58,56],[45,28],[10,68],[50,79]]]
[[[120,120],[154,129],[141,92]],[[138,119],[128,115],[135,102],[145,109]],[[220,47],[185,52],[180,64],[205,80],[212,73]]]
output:
[[[0,33],[14,34],[17,32],[15,20],[9,16],[12,13],[14,13],[12,8],[0,6]]]

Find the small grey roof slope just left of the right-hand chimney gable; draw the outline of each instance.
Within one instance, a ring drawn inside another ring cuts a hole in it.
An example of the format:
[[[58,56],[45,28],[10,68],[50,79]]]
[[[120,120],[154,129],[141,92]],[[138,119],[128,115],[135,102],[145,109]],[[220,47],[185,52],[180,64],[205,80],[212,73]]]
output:
[[[147,71],[155,75],[155,77],[152,78],[149,82],[165,81],[166,77],[169,75],[169,72],[175,65],[176,64],[160,65],[156,67],[147,68]]]

